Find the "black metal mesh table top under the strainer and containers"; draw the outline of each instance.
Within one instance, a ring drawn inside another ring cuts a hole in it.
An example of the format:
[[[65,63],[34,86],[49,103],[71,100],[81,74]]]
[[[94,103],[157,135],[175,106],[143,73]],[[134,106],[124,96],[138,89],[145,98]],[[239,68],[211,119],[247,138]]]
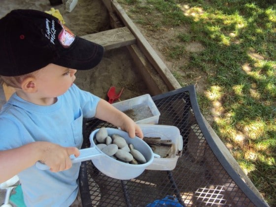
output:
[[[161,113],[158,125],[177,127],[183,138],[176,167],[145,170],[134,179],[118,180],[101,173],[91,161],[82,162],[83,207],[268,206],[215,143],[200,113],[194,86],[152,99]],[[83,148],[90,147],[90,133],[101,127],[114,126],[99,119],[84,122]]]

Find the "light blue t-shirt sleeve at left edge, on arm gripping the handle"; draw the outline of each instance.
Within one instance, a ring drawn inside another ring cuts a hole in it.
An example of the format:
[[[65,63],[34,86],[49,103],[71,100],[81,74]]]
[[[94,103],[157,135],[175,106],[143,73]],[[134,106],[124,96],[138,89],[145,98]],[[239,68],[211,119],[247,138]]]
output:
[[[20,126],[8,118],[0,117],[0,150],[20,147],[25,143]]]

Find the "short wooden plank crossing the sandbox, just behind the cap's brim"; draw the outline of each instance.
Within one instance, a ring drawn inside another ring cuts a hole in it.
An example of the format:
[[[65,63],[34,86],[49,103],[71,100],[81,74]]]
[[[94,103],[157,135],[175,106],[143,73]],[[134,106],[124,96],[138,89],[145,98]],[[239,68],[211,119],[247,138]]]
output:
[[[84,35],[81,37],[103,45],[105,50],[111,50],[136,43],[135,36],[127,27],[106,30],[104,32]]]

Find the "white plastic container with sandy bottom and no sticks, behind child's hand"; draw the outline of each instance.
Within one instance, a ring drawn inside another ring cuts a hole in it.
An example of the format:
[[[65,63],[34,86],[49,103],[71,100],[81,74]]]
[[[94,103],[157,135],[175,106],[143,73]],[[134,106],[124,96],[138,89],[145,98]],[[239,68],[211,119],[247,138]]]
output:
[[[149,94],[112,105],[130,116],[137,124],[158,124],[160,112]]]

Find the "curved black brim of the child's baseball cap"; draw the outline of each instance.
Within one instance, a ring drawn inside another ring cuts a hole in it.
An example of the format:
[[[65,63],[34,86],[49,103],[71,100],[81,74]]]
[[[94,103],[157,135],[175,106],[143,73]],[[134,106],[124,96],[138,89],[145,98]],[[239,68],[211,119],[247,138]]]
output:
[[[62,52],[53,64],[70,69],[86,70],[97,66],[104,55],[104,47],[76,36],[69,48]]]

